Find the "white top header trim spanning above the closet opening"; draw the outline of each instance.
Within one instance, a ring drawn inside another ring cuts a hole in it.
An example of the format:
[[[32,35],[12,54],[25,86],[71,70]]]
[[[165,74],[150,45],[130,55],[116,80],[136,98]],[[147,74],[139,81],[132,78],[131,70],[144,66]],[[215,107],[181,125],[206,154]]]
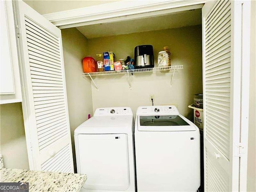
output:
[[[65,29],[199,9],[205,2],[206,0],[118,1],[43,16],[58,28]]]

